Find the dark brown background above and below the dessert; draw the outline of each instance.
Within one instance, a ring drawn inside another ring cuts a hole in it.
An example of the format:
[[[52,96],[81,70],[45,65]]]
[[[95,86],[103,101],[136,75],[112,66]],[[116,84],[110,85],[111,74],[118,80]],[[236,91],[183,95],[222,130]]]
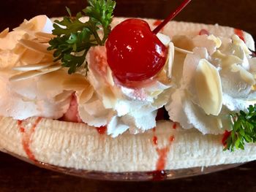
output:
[[[117,0],[115,15],[162,19],[181,0]],[[35,15],[78,12],[86,0],[1,0],[0,31]],[[255,0],[192,0],[176,20],[219,23],[244,29],[256,37]],[[110,182],[51,172],[0,153],[0,192],[5,191],[256,191],[256,162],[213,174],[164,182]]]

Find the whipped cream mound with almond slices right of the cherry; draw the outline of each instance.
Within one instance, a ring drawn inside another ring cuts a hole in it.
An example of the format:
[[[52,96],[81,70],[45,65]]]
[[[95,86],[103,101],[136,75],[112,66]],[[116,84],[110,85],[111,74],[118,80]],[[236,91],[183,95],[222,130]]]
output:
[[[255,58],[236,35],[200,35],[189,41],[192,53],[177,55],[184,57],[182,76],[165,107],[170,120],[183,128],[222,134],[230,128],[230,113],[255,103]]]

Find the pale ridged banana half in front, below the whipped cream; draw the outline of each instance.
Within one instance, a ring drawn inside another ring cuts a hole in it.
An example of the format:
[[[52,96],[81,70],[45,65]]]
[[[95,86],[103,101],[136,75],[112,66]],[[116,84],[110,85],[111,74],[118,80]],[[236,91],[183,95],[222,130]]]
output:
[[[36,120],[24,120],[23,127],[27,129],[26,126]],[[236,164],[256,159],[255,145],[246,145],[245,150],[235,152],[224,151],[221,135],[203,135],[195,129],[184,130],[173,125],[170,121],[159,121],[154,130],[141,134],[126,132],[113,139],[83,123],[42,118],[27,145],[34,155],[31,161],[102,172],[154,171],[163,158],[159,151],[165,149],[163,169]],[[2,117],[0,127],[0,149],[29,158],[31,154],[24,148],[24,135],[18,121]]]

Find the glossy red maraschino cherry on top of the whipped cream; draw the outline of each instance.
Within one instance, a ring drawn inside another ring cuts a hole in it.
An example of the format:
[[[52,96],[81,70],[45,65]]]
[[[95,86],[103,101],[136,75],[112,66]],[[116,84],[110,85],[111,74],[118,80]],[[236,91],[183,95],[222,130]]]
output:
[[[113,28],[106,48],[110,69],[123,83],[153,77],[167,59],[165,45],[140,19],[124,20]]]

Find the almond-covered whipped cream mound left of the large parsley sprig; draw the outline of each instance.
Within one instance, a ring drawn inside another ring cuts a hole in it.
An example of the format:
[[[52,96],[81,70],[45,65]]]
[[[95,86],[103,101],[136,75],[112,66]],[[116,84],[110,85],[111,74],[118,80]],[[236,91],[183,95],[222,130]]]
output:
[[[53,72],[61,67],[53,64],[53,56],[46,50],[48,38],[42,36],[52,29],[50,19],[39,15],[1,33],[0,115],[19,120],[33,116],[56,119],[69,108],[72,92],[59,86],[67,72]],[[48,72],[53,73],[49,76]],[[56,75],[60,80],[53,80]]]

